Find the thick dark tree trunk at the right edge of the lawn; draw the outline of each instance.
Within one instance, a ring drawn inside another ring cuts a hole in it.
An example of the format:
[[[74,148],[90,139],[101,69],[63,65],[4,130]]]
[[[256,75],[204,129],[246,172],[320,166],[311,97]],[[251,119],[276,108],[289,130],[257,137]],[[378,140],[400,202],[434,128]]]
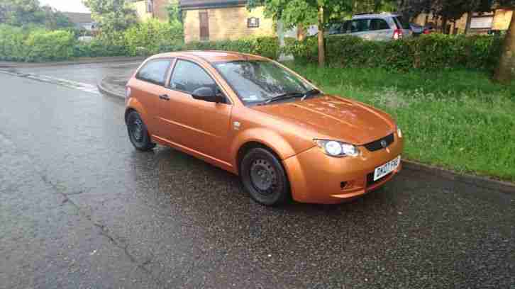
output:
[[[513,5],[513,3],[512,3]],[[509,84],[515,78],[515,12],[511,16],[504,45],[502,47],[501,59],[495,69],[494,80],[502,84]]]

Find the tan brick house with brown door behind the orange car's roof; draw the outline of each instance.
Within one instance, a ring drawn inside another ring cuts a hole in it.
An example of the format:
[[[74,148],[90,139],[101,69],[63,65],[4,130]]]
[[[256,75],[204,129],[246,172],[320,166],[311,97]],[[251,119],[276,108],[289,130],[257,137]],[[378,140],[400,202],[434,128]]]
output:
[[[274,22],[263,8],[248,11],[241,0],[180,0],[184,41],[234,40],[275,35]]]

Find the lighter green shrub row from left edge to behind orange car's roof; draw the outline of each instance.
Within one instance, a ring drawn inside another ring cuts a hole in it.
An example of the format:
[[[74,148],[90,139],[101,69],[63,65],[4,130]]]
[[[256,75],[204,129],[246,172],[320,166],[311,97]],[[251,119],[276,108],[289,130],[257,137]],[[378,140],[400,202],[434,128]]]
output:
[[[189,42],[184,44],[182,27],[150,20],[126,31],[104,33],[89,42],[79,42],[64,30],[22,29],[0,26],[0,60],[45,62],[72,57],[147,56],[179,50],[227,50],[276,58],[277,38]]]

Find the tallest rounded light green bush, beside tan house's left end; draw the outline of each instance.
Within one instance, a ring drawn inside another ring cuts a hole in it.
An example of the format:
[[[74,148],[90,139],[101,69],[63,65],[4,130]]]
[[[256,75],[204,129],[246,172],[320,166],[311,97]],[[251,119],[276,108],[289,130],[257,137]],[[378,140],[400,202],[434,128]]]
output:
[[[128,28],[123,36],[131,56],[154,55],[180,45],[183,41],[182,25],[179,22],[168,23],[156,19]]]

